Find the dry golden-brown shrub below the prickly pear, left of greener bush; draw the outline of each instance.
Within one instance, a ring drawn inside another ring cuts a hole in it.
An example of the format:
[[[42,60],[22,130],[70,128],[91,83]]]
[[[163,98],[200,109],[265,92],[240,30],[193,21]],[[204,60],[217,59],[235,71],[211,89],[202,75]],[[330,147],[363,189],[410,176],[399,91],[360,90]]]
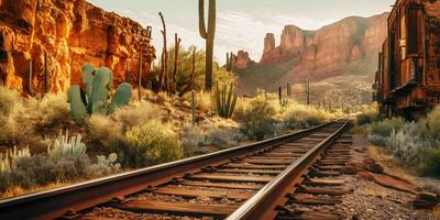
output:
[[[92,114],[86,119],[87,138],[105,146],[112,146],[123,139],[121,123],[113,121],[110,117]]]

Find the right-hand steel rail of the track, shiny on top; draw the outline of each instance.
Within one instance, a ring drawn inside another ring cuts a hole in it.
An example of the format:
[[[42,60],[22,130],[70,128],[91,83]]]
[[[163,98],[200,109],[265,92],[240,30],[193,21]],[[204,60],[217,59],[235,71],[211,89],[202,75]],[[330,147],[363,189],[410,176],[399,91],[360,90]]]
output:
[[[286,195],[292,193],[295,185],[301,180],[302,174],[321,156],[326,147],[330,146],[348,128],[349,121],[345,121],[338,131],[289,165],[231,213],[227,220],[274,219],[277,215],[276,207],[288,200]]]

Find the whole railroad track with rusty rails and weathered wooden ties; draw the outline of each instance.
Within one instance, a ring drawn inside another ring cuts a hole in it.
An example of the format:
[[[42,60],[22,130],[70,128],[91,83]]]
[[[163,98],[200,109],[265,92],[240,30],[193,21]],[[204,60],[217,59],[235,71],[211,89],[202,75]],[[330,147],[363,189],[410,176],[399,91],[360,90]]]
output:
[[[334,210],[321,206],[337,204],[343,193],[338,188],[342,182],[327,177],[340,175],[349,160],[351,141],[343,134],[349,127],[349,121],[332,121],[254,144],[2,200],[0,219],[338,218]],[[302,207],[310,205],[320,210]]]

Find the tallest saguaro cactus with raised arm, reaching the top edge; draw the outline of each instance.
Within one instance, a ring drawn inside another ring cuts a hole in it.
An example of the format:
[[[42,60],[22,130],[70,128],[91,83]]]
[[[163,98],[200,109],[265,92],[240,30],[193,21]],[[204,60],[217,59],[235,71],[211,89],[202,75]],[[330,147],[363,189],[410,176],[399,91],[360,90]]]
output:
[[[205,90],[212,89],[213,40],[216,36],[216,0],[209,0],[208,30],[205,24],[205,0],[199,0],[199,33],[206,40]]]

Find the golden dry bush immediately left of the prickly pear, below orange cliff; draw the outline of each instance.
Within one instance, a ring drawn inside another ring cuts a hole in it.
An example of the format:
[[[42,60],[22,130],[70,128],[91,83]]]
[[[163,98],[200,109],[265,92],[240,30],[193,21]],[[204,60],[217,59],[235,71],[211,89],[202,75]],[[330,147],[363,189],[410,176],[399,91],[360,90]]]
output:
[[[28,108],[28,113],[38,127],[70,121],[70,109],[64,94],[46,94],[41,100],[31,98]]]

